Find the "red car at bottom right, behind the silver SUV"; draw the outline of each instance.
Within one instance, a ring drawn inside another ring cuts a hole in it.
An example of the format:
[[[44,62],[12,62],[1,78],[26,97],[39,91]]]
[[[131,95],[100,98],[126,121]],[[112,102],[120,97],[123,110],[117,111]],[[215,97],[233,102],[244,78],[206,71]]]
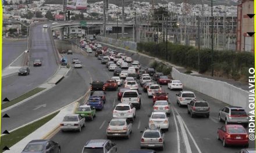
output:
[[[223,125],[218,128],[217,139],[222,140],[223,147],[227,145],[249,146],[248,134],[242,125]]]

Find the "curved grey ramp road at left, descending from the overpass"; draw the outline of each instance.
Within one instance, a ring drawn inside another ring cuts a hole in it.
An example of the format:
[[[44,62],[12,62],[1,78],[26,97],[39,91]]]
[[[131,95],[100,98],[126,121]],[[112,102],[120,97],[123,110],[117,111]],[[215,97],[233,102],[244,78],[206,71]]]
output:
[[[3,78],[2,97],[8,97],[9,100],[12,100],[21,94],[34,89],[38,85],[41,85],[47,81],[49,77],[55,74],[58,65],[56,63],[55,51],[51,42],[51,35],[49,35],[48,30],[49,29],[47,28],[42,28],[42,24],[35,25],[35,27],[32,28],[29,65],[30,75],[12,75],[11,77]],[[12,46],[10,49],[13,49],[14,47],[15,46]],[[40,59],[42,61],[42,66],[33,67],[34,59]],[[5,63],[8,63],[8,61],[5,61]]]

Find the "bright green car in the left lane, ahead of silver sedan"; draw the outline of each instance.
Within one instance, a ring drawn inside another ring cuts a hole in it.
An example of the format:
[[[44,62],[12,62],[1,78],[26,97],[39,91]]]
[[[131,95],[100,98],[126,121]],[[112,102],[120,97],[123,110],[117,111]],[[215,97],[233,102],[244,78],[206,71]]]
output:
[[[84,118],[90,118],[93,121],[93,118],[96,116],[96,110],[90,105],[80,105],[76,114],[80,114]]]

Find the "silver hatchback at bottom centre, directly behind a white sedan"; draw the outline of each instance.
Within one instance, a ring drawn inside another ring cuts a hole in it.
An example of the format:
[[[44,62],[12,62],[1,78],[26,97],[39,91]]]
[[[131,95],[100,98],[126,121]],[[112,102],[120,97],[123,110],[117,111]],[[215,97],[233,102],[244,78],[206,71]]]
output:
[[[162,133],[159,128],[155,128],[155,126],[145,128],[141,136],[140,148],[160,148],[163,150],[164,135],[165,134]]]

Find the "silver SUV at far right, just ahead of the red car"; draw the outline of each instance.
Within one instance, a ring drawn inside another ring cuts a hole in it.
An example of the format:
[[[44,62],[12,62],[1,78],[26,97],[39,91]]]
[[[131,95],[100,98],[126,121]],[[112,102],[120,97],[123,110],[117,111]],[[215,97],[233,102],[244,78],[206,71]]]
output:
[[[225,121],[226,125],[229,123],[241,123],[247,127],[248,119],[248,115],[242,107],[226,106],[219,110],[219,121]]]

